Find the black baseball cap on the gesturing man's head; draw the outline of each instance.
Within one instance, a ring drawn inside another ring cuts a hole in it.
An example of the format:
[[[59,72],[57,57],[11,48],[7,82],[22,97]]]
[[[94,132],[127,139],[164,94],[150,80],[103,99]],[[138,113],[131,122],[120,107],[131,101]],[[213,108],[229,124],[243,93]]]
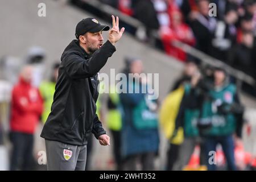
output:
[[[100,32],[100,31],[108,31],[109,26],[102,25],[95,18],[85,18],[82,19],[76,25],[76,38],[78,39],[80,35],[84,35],[86,32]]]

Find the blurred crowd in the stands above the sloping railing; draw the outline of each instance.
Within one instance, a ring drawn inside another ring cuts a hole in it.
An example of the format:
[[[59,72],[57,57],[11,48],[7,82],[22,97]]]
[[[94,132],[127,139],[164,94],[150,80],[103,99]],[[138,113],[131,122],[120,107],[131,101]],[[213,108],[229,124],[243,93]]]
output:
[[[256,1],[100,1],[140,20],[147,28],[145,41],[157,31],[160,43],[155,46],[168,55],[187,60],[187,54],[172,44],[179,40],[256,79]],[[244,89],[255,96],[255,88],[245,85]]]

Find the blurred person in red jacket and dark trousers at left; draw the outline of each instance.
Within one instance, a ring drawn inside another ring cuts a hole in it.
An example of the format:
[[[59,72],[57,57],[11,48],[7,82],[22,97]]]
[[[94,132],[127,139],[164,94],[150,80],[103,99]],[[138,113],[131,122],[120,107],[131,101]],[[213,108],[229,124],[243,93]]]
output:
[[[31,85],[32,67],[26,65],[13,88],[11,100],[10,139],[13,143],[11,170],[31,170],[33,135],[43,110],[39,90]]]

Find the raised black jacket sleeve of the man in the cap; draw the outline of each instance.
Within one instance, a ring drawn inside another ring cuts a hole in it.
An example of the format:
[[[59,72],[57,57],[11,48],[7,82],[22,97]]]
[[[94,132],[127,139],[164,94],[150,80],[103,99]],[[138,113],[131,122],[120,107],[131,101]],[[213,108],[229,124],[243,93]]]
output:
[[[106,64],[106,61],[115,52],[115,47],[109,40],[90,59],[83,59],[81,56],[72,54],[64,57],[63,64],[65,72],[71,78],[88,78],[95,75]]]

